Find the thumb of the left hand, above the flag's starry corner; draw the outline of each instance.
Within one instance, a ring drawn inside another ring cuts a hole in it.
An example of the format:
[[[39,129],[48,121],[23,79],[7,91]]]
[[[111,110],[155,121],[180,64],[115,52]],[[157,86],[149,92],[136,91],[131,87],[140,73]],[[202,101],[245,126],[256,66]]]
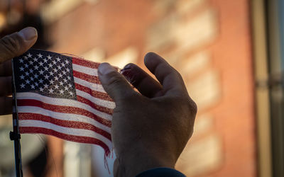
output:
[[[23,28],[18,33],[6,35],[0,39],[0,64],[22,55],[26,52],[38,38],[35,28]]]

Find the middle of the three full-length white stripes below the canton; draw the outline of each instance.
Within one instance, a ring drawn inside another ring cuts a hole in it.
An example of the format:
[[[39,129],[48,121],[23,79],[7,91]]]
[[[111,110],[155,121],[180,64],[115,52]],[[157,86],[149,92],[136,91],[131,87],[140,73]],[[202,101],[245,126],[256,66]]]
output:
[[[96,127],[99,127],[100,129],[111,132],[111,128],[107,127],[106,125],[102,125],[100,122],[97,122],[97,120],[94,120],[92,118],[89,118],[84,115],[76,115],[76,114],[69,114],[69,113],[57,113],[53,112],[51,110],[45,110],[43,108],[33,107],[33,106],[18,106],[18,113],[35,113],[40,115],[46,115],[50,116],[52,118],[56,118],[59,120],[69,120],[69,121],[75,121],[75,122],[86,122],[91,125],[94,125]]]

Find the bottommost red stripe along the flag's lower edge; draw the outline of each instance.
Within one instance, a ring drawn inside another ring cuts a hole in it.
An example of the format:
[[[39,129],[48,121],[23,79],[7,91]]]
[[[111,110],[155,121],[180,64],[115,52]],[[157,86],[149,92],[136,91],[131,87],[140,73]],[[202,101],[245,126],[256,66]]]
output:
[[[81,137],[81,136],[75,136],[75,135],[67,135],[61,132],[56,132],[55,130],[50,130],[47,128],[42,127],[19,127],[20,133],[41,133],[45,135],[53,135],[55,137],[59,137],[61,139],[65,139],[72,142],[82,142],[82,143],[89,143],[89,144],[97,144],[104,148],[104,152],[106,155],[109,155],[109,147],[107,147],[107,144],[102,142],[101,140],[94,138],[94,137]]]

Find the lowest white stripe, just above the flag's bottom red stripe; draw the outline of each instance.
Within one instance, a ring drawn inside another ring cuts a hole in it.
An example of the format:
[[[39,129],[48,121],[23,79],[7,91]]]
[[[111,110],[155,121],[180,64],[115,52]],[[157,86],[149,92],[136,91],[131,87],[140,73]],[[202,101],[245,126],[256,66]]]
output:
[[[63,133],[65,135],[75,135],[75,136],[82,136],[82,137],[93,137],[101,140],[109,149],[112,148],[111,141],[106,137],[100,135],[97,132],[92,130],[84,130],[84,129],[77,129],[77,128],[70,128],[70,127],[61,127],[59,125],[54,125],[50,122],[43,122],[40,120],[18,120],[18,124],[20,127],[42,127],[47,128],[50,130],[55,130],[56,132]]]

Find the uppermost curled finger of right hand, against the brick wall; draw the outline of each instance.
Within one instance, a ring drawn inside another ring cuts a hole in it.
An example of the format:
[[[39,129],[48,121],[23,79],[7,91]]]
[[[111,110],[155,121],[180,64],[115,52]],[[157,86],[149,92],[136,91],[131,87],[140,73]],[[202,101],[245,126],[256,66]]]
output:
[[[162,57],[153,52],[149,52],[144,62],[146,67],[152,72],[155,77],[163,85],[165,94],[172,93],[173,95],[186,91],[185,83],[182,80],[180,73],[168,64]]]

